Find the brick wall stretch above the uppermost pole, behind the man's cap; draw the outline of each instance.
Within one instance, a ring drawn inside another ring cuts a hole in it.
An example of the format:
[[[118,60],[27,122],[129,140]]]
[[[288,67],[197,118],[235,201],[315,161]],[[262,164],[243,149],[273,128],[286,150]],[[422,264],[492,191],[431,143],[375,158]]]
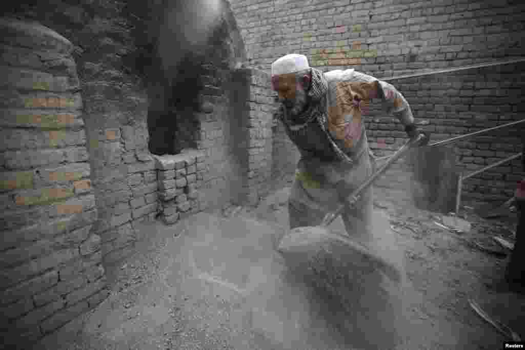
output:
[[[463,66],[523,54],[519,1],[230,0],[250,65],[307,55],[320,69],[394,72]]]

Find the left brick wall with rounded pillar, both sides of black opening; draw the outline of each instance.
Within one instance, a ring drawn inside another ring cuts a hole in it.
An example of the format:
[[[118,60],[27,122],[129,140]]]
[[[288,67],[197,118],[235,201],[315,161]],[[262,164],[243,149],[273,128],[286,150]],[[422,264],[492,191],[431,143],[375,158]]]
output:
[[[159,4],[146,5],[158,15]],[[11,334],[24,334],[33,342],[103,299],[101,262],[107,268],[132,253],[141,238],[135,223],[166,208],[159,206],[164,184],[159,185],[148,151],[148,93],[156,91],[148,88],[155,79],[144,79],[144,68],[155,66],[158,58],[148,38],[156,37],[152,28],[159,22],[149,10],[139,10],[141,17],[135,18],[133,9],[118,1],[0,7],[6,15],[50,28],[29,36],[13,30],[0,39],[19,41],[14,47],[2,44],[0,51],[0,70],[14,83],[0,88],[2,332],[15,327]],[[218,82],[229,81],[228,71],[243,61],[244,47],[229,7],[222,10],[223,32],[212,37],[223,40],[215,43],[220,67],[203,77],[211,81],[202,94],[202,110],[195,111],[199,128],[181,129],[185,136],[194,135],[205,152],[194,164],[185,164],[184,179],[190,183],[182,187],[186,201],[176,199],[178,212],[185,214],[187,203],[198,210],[210,204],[197,201],[198,185],[212,205],[222,205],[239,197],[236,179],[243,177],[243,149],[236,147],[238,124],[228,97],[232,93]],[[138,59],[133,54],[142,44],[142,54],[150,57]],[[40,52],[39,45],[58,53]],[[33,98],[26,104],[25,95]]]

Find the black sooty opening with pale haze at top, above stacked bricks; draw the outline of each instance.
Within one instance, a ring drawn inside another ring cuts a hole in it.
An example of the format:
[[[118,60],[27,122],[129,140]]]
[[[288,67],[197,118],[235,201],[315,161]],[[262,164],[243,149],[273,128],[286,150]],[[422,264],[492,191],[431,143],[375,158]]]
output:
[[[136,18],[150,13],[148,20],[134,23],[138,50],[125,58],[148,85],[150,152],[178,154],[197,148],[200,132],[195,114],[205,108],[202,94],[208,86],[220,85],[208,70],[228,70],[243,59],[244,45],[239,47],[242,41],[228,4],[153,2],[129,4],[128,12]]]

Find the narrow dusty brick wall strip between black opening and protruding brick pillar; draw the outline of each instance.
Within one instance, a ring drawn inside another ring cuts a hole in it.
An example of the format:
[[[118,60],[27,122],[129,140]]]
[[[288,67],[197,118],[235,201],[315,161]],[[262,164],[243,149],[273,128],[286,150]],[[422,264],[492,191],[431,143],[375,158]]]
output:
[[[225,68],[210,70],[215,86],[203,91],[204,109],[197,113],[200,139],[197,149],[203,152],[205,164],[197,176],[202,178],[203,210],[221,208],[245,201],[247,136],[241,102],[245,82]]]

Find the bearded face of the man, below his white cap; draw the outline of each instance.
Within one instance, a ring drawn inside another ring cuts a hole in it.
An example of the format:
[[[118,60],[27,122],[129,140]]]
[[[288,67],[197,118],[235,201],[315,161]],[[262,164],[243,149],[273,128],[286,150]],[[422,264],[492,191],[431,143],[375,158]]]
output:
[[[288,113],[298,115],[307,104],[307,94],[295,73],[272,77],[272,85]]]

